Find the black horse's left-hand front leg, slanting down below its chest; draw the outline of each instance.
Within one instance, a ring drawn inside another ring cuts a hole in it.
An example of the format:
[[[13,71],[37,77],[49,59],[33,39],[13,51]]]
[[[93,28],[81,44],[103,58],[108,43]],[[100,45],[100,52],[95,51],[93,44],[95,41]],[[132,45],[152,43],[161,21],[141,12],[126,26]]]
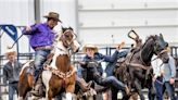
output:
[[[144,100],[144,96],[143,96],[143,92],[142,92],[142,88],[141,88],[141,83],[138,80],[138,79],[135,79],[135,86],[136,86],[136,89],[138,91],[138,95],[140,96],[140,100]]]

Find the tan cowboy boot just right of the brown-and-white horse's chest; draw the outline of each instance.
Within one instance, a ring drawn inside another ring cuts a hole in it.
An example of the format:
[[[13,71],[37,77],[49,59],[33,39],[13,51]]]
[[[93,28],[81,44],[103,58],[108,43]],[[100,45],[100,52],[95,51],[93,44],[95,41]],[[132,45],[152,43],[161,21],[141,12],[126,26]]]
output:
[[[87,84],[87,83],[85,82],[84,78],[80,78],[80,79],[78,79],[78,84],[79,84],[81,90],[82,90],[84,92],[86,92],[87,90],[90,89],[90,86],[91,86],[92,82],[89,82],[89,83]]]

